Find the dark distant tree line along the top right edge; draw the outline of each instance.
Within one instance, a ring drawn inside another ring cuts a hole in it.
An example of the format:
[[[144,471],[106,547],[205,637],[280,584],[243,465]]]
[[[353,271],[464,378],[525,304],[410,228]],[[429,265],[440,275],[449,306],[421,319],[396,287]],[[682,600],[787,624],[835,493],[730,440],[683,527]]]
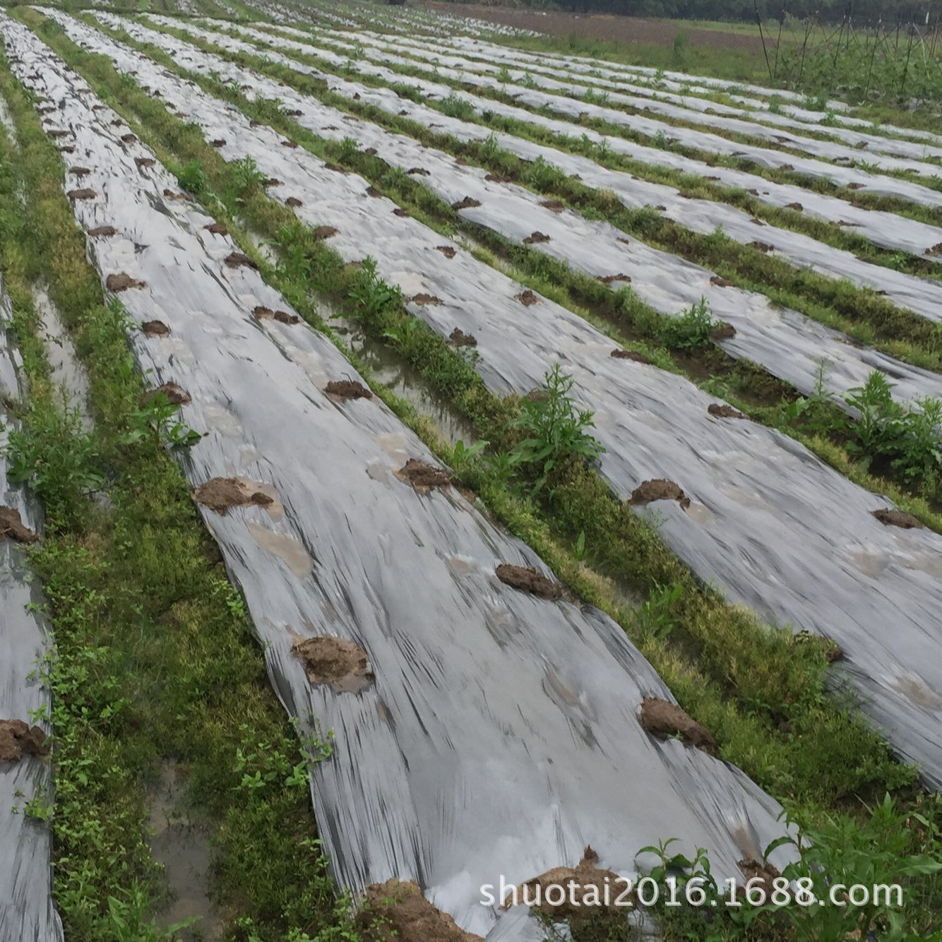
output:
[[[485,0],[487,2],[487,0]],[[502,4],[504,5],[504,4]],[[940,0],[511,0],[507,6],[562,9],[580,13],[620,13],[624,16],[672,17],[690,20],[763,20],[783,13],[804,19],[816,16],[836,23],[850,15],[857,23],[937,22]]]

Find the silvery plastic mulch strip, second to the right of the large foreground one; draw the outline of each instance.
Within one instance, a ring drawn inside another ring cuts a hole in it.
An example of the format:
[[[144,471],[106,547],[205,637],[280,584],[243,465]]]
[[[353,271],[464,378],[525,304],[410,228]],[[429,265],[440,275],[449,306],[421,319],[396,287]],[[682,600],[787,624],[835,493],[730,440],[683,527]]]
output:
[[[137,69],[138,80],[145,87],[166,85],[167,76],[156,64],[140,62],[129,50],[122,50],[84,24],[76,24],[65,16],[59,19],[73,40],[113,57],[123,71]],[[903,400],[942,393],[942,377],[937,373],[904,364],[874,349],[854,346],[845,335],[794,311],[777,308],[764,295],[712,284],[714,276],[706,268],[652,249],[607,222],[586,219],[569,210],[555,212],[542,205],[545,201],[528,189],[488,180],[490,174],[485,171],[461,166],[451,155],[426,147],[414,138],[351,119],[311,96],[173,37],[133,24],[128,24],[128,29],[141,40],[163,45],[179,65],[191,71],[219,74],[246,89],[250,97],[280,98],[301,125],[320,137],[341,140],[352,136],[361,148],[374,148],[393,166],[405,171],[416,168],[426,171],[421,176],[422,183],[446,203],[458,203],[465,198],[480,203],[461,213],[481,226],[517,243],[533,233],[548,236],[548,241],[534,243],[533,248],[594,277],[625,276],[625,280],[614,285],[630,281],[632,290],[661,313],[675,316],[707,298],[713,314],[731,323],[737,332],[735,337],[721,342],[723,349],[732,356],[747,357],[765,366],[772,375],[792,383],[805,394],[815,392],[819,383],[833,393],[844,394],[863,385],[874,369],[892,378],[896,383],[894,395]],[[178,88],[183,87],[179,81]],[[359,94],[361,88],[347,87],[341,82],[339,90],[352,96]],[[366,89],[363,94],[367,95]],[[395,107],[398,99],[389,97],[393,101],[386,105]],[[184,106],[185,102],[186,96],[181,92],[176,104]],[[456,123],[461,124],[449,120],[445,130],[452,130],[451,125]],[[755,225],[749,225],[755,230]],[[927,304],[927,310],[942,319],[942,284],[915,278],[911,281],[926,296],[934,295],[934,303]],[[844,405],[842,400],[841,404]]]

